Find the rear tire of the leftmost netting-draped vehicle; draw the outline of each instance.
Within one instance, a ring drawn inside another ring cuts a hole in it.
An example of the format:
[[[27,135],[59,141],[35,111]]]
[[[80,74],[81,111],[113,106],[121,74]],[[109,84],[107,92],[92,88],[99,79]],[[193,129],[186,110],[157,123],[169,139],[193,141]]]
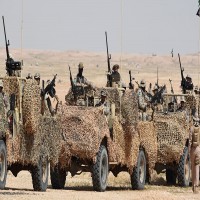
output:
[[[35,191],[46,191],[49,177],[49,161],[44,162],[40,159],[37,166],[34,166],[32,171],[33,189]]]

